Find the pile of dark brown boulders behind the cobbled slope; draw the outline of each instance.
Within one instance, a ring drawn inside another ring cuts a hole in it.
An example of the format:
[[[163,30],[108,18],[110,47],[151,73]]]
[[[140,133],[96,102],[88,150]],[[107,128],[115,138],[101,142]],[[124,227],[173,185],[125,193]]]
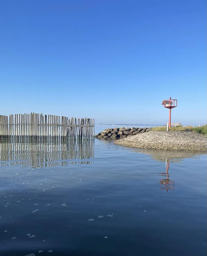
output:
[[[109,139],[109,138],[126,138],[130,136],[134,136],[138,133],[144,133],[150,131],[151,128],[139,128],[139,127],[121,127],[121,128],[111,128],[111,129],[106,129],[97,135],[95,135],[96,138],[99,139]]]

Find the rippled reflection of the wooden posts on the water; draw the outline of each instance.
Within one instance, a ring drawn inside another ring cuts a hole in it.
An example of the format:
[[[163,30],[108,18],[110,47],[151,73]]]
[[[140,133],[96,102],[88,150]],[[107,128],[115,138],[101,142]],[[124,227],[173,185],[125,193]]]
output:
[[[89,164],[94,157],[93,140],[69,140],[67,143],[0,142],[0,167],[17,165],[19,167],[60,167],[69,164]],[[68,160],[85,161],[68,161]],[[61,161],[65,160],[65,161]]]

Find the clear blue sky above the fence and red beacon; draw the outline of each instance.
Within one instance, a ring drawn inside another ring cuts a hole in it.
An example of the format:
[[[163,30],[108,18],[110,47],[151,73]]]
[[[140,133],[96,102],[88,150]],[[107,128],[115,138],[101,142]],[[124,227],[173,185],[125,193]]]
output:
[[[206,123],[205,0],[1,0],[0,114]]]

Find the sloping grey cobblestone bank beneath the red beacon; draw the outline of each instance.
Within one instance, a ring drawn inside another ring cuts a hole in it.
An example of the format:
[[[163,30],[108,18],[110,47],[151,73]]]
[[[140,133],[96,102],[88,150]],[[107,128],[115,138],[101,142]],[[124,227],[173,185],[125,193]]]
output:
[[[207,151],[207,138],[194,132],[151,131],[116,140],[114,143],[139,149]]]

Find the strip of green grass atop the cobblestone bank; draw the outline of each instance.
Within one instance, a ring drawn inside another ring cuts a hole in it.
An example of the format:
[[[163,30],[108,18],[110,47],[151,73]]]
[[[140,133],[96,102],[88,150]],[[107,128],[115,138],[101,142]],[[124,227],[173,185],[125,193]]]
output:
[[[167,127],[166,126],[160,126],[160,127],[153,127],[151,131],[167,131]],[[191,131],[191,132],[197,132],[200,134],[204,134],[207,135],[207,125],[203,125],[203,126],[177,126],[177,127],[171,127],[171,129],[169,129],[169,131]]]

